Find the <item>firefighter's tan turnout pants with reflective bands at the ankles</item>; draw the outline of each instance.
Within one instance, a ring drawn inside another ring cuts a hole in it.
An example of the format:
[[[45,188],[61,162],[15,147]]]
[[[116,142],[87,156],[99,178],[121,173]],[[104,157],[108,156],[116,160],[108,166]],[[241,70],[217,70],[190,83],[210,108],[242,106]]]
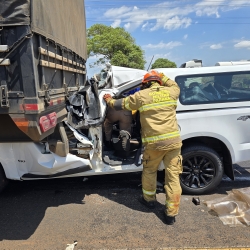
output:
[[[166,211],[175,216],[179,211],[181,198],[180,177],[182,173],[181,148],[169,147],[167,150],[145,149],[143,153],[142,192],[146,201],[155,201],[157,170],[163,161],[165,166]]]

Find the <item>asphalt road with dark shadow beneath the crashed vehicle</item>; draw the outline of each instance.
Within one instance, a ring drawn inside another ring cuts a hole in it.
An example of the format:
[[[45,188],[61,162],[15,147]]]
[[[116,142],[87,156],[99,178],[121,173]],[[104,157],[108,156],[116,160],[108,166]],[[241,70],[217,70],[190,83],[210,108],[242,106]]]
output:
[[[201,201],[250,186],[250,162],[236,166],[236,181],[224,178]],[[249,227],[223,225],[193,196],[182,195],[173,226],[164,224],[165,194],[155,210],[138,203],[140,173],[11,182],[0,195],[0,249],[161,249],[249,247]],[[162,177],[159,176],[162,182]]]

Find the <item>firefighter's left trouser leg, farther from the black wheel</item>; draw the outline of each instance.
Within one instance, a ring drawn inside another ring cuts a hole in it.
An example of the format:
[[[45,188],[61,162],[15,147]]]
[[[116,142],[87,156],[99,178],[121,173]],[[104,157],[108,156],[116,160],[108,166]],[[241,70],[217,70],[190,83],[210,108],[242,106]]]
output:
[[[165,151],[147,150],[143,153],[142,193],[146,201],[155,201],[157,170]]]

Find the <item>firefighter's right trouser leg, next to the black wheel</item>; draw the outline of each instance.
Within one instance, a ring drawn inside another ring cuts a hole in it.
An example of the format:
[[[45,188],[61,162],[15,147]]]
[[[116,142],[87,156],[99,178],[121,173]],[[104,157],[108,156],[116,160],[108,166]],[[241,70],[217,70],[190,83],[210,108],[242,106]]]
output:
[[[168,151],[164,156],[166,211],[168,216],[176,216],[181,199],[180,174],[182,173],[181,149]]]

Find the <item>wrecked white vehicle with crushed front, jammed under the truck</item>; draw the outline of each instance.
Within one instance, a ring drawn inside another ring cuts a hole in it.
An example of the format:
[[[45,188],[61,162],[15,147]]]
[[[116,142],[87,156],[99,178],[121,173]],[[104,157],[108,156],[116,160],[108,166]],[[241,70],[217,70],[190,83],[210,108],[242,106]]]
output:
[[[250,160],[249,65],[157,70],[175,80],[181,89],[177,118],[183,140],[184,171],[180,176],[183,192],[210,192],[220,183],[223,173],[233,180],[233,164]],[[50,150],[46,140],[0,143],[3,170],[0,183],[6,178],[33,180],[142,170],[136,119],[129,139],[131,147],[125,155],[119,151],[116,125],[113,142],[118,144],[113,149],[106,148],[102,128],[106,114],[103,95],[110,93],[121,98],[132,93],[140,86],[146,71],[111,66],[106,73],[99,89],[98,82],[92,79],[69,104],[68,120],[63,125],[69,154],[64,157],[53,153],[56,151]],[[163,164],[159,170],[162,169]]]

